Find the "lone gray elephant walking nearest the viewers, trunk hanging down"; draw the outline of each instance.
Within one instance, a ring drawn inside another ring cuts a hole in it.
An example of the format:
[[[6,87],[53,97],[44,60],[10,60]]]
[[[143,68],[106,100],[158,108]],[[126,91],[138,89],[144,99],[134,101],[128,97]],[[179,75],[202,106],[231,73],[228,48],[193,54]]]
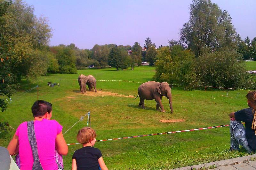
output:
[[[165,112],[164,106],[162,104],[162,96],[165,96],[167,99],[169,99],[170,109],[173,113],[172,108],[172,93],[171,93],[171,87],[167,82],[159,83],[156,81],[148,81],[146,83],[143,83],[138,88],[138,95],[140,96],[140,103],[139,107],[145,108],[144,100],[153,100],[156,101],[156,110],[159,110],[159,107],[161,108],[161,112]],[[137,99],[137,97],[135,99]]]

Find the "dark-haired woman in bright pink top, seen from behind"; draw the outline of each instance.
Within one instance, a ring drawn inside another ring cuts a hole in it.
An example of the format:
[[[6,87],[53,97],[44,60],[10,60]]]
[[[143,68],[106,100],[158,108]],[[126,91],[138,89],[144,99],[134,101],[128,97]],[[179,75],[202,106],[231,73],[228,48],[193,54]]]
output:
[[[36,143],[40,163],[44,170],[58,170],[55,152],[68,154],[68,146],[62,135],[62,126],[52,117],[52,104],[44,100],[37,100],[32,106]],[[20,169],[29,170],[33,167],[32,149],[28,141],[27,122],[19,125],[10,144],[7,147],[10,155],[20,154]]]

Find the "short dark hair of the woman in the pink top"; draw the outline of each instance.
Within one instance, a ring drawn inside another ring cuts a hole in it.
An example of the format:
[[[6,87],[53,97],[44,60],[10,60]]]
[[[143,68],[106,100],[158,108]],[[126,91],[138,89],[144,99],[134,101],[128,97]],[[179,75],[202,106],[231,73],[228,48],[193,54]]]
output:
[[[31,111],[34,117],[41,117],[45,115],[46,112],[48,112],[49,114],[51,113],[52,104],[44,100],[36,100],[36,102],[31,107]]]

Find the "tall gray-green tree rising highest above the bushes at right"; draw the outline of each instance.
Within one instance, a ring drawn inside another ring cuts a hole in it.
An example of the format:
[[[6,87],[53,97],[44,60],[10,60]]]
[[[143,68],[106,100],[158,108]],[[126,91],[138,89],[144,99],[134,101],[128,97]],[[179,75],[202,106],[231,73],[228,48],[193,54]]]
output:
[[[198,57],[203,51],[233,48],[236,31],[227,11],[210,0],[193,0],[190,19],[180,30],[180,41]]]

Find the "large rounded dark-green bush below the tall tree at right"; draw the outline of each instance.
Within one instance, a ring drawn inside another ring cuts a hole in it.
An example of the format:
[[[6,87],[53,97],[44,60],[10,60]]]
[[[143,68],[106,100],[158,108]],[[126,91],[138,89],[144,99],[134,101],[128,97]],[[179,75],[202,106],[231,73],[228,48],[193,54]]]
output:
[[[196,59],[196,78],[203,85],[241,88],[246,85],[245,64],[235,51],[205,53]]]

